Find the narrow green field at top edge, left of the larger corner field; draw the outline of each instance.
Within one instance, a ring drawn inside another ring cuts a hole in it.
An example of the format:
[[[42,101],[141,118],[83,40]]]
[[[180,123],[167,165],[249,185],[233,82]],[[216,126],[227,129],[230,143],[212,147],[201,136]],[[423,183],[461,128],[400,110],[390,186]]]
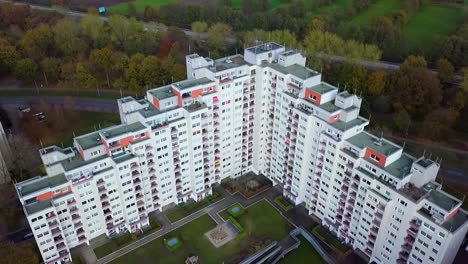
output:
[[[402,4],[402,0],[379,0],[367,10],[353,17],[346,25],[368,25],[374,17],[391,14],[393,11],[400,9]]]

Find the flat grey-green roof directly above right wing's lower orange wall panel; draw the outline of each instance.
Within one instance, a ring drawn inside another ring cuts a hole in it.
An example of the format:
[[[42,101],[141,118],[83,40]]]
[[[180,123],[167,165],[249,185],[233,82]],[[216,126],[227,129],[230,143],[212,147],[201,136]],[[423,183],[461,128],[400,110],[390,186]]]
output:
[[[389,156],[401,149],[401,147],[390,143],[385,139],[377,138],[367,132],[361,132],[353,137],[348,138],[347,140],[349,143],[360,149],[371,148],[372,150],[377,151],[385,156]]]

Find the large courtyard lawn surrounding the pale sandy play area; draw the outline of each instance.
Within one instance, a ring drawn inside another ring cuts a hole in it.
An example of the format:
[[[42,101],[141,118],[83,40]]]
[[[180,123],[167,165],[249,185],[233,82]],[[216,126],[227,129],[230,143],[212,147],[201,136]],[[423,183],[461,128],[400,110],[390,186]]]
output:
[[[250,234],[242,240],[232,240],[228,244],[215,248],[205,237],[205,233],[216,226],[208,215],[203,215],[192,222],[160,237],[150,243],[114,260],[111,263],[184,263],[190,254],[199,256],[200,263],[219,264],[235,257],[239,252],[250,247],[256,238],[280,240],[286,237],[292,226],[268,202],[261,201],[246,209],[239,217],[239,223]],[[178,237],[182,244],[174,251],[164,245],[164,239]]]

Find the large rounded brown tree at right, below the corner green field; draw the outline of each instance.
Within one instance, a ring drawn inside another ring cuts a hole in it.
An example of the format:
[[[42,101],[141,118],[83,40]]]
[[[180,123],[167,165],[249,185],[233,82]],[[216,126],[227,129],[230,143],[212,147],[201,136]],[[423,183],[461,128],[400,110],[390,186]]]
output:
[[[437,108],[442,100],[442,89],[437,77],[426,68],[407,68],[396,81],[393,91],[396,109],[410,114],[425,115]]]

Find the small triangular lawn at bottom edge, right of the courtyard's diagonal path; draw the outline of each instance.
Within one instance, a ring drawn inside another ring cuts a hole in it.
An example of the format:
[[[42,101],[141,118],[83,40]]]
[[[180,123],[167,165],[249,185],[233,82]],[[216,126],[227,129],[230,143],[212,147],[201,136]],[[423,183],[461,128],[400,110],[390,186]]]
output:
[[[297,249],[287,254],[284,259],[279,262],[280,264],[304,263],[304,260],[306,259],[308,263],[326,263],[307,239],[301,235],[297,238],[301,241],[301,244]]]

